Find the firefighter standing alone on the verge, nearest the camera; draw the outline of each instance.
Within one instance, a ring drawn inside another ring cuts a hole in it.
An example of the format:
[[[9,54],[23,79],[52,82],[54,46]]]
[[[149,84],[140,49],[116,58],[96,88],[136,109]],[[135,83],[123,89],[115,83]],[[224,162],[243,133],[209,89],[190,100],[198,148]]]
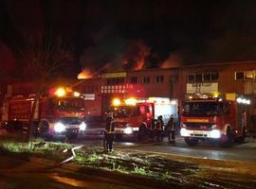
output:
[[[106,128],[104,130],[104,141],[103,146],[105,151],[112,152],[113,150],[113,141],[114,141],[114,132],[115,124],[113,114],[109,113],[106,118]]]

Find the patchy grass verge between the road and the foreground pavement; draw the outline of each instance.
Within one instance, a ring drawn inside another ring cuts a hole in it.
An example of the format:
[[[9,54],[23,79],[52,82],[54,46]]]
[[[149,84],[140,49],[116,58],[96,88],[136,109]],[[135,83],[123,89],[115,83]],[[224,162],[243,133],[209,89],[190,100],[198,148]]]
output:
[[[71,156],[64,149],[71,149],[73,145],[63,143],[49,143],[33,141],[27,143],[14,143],[2,141],[1,152],[16,157],[35,156],[54,161],[64,161]],[[172,182],[185,187],[197,188],[250,188],[256,178],[223,169],[202,167],[196,161],[182,161],[167,158],[151,153],[142,153],[135,150],[115,150],[105,153],[100,147],[82,147],[76,151],[73,163],[82,167],[107,170],[120,174],[129,174],[139,177]]]

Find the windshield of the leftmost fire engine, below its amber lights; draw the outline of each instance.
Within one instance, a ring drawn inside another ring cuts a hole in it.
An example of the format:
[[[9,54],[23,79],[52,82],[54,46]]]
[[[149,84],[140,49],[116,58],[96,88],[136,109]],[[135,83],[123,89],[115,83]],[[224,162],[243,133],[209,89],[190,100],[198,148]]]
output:
[[[84,111],[82,98],[57,99],[56,104],[60,111]]]

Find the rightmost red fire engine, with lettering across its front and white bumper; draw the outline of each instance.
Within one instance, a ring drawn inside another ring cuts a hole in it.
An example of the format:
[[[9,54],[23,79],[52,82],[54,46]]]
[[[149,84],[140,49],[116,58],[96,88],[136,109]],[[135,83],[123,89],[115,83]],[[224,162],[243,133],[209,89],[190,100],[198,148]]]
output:
[[[230,146],[234,139],[247,135],[248,105],[250,100],[227,94],[226,99],[201,94],[182,103],[181,130],[189,146],[199,140],[211,139]]]

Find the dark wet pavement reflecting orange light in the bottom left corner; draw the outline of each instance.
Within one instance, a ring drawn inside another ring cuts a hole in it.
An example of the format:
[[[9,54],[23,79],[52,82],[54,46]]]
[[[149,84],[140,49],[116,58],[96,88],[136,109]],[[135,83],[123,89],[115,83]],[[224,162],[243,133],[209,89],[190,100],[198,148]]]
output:
[[[101,180],[89,175],[79,175],[54,168],[52,165],[30,163],[0,156],[1,189],[74,189],[74,188],[143,188],[111,180]]]

